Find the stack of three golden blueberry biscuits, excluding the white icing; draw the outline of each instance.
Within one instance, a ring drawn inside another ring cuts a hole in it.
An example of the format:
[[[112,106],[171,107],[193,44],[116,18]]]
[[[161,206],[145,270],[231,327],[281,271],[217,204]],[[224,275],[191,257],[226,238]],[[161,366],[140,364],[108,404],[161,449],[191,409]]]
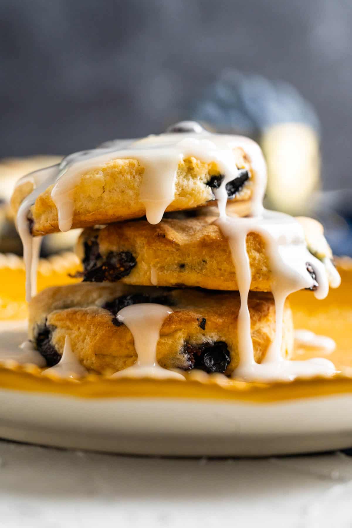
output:
[[[184,132],[185,130],[174,130]],[[228,206],[248,214],[256,185],[249,154],[233,149],[240,176],[226,184]],[[145,219],[139,200],[144,167],[138,159],[112,159],[82,174],[74,189],[72,228],[85,228],[77,243],[82,262],[79,284],[53,287],[30,304],[30,338],[47,366],[60,362],[65,337],[88,371],[112,374],[134,365],[137,353],[122,308],[156,303],[172,308],[157,342],[157,362],[165,369],[230,376],[240,360],[237,318],[240,309],[236,270],[229,241],[214,223],[214,190],[223,181],[215,162],[182,159],[175,176],[174,201],[156,225]],[[26,183],[27,185],[27,183]],[[47,188],[28,213],[33,236],[57,232],[58,211]],[[32,189],[17,185],[14,211]],[[259,234],[246,240],[252,273],[248,307],[256,362],[275,336],[272,273]],[[327,249],[322,258],[329,257]],[[307,271],[308,273],[309,271]],[[281,353],[293,351],[293,324],[284,308]]]

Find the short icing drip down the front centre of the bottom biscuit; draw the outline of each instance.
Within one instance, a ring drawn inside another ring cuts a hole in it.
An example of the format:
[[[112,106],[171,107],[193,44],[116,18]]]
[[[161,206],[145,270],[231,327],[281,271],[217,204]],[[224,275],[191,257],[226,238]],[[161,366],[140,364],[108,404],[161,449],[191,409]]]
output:
[[[118,312],[118,320],[127,326],[134,338],[138,359],[134,365],[113,374],[113,378],[185,379],[182,374],[163,369],[156,359],[160,328],[172,311],[160,304],[142,303],[126,306]]]

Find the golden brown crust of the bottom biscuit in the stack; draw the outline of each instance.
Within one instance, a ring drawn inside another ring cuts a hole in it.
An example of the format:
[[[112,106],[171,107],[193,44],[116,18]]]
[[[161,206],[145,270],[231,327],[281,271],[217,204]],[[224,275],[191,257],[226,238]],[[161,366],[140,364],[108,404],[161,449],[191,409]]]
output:
[[[137,357],[132,334],[125,325],[115,326],[113,315],[102,305],[121,295],[136,293],[152,297],[167,295],[168,303],[172,304],[174,311],[165,319],[157,344],[157,359],[161,366],[188,369],[191,363],[186,344],[225,342],[231,357],[225,373],[232,373],[239,363],[237,316],[240,298],[235,292],[89,283],[48,288],[30,303],[30,337],[36,343],[46,324],[51,331],[51,344],[60,355],[65,335],[69,335],[73,352],[87,369],[100,373],[125,369],[134,364]],[[249,310],[255,359],[260,362],[275,334],[275,307],[271,294],[251,294]],[[203,318],[205,323],[200,325]],[[286,304],[282,355],[290,357],[292,349],[292,317]]]

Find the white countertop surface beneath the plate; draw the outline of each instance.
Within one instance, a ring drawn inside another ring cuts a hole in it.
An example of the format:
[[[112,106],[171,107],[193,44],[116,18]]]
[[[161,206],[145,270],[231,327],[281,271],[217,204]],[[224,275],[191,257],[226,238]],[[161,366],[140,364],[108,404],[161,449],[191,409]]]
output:
[[[122,457],[0,441],[1,528],[352,526],[352,457]]]

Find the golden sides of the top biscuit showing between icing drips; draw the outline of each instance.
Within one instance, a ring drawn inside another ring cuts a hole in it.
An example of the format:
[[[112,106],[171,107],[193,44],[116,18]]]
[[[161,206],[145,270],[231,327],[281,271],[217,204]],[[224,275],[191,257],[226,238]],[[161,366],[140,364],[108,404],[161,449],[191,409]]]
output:
[[[250,159],[240,147],[234,148],[234,163],[249,171],[250,179],[233,197],[233,201],[251,199],[255,174]],[[144,167],[137,159],[115,159],[110,163],[82,175],[73,192],[73,228],[108,224],[140,218],[145,206],[139,200]],[[175,182],[175,199],[166,211],[180,211],[212,203],[214,194],[206,183],[220,172],[215,162],[204,163],[193,157],[179,162]],[[59,230],[58,212],[51,199],[53,185],[37,197],[29,218],[33,220],[32,234],[43,235]],[[33,184],[24,181],[17,185],[11,199],[14,214],[24,198],[33,190]]]

